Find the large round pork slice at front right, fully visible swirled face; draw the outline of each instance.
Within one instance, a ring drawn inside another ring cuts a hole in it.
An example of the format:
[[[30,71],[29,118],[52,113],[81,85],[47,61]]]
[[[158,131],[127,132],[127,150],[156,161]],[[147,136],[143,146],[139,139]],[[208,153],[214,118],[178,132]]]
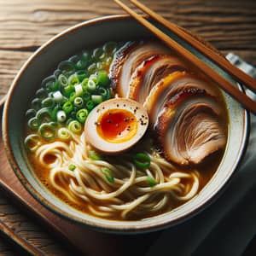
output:
[[[161,110],[155,130],[166,159],[182,166],[200,164],[226,144],[221,108],[205,90],[174,96]]]

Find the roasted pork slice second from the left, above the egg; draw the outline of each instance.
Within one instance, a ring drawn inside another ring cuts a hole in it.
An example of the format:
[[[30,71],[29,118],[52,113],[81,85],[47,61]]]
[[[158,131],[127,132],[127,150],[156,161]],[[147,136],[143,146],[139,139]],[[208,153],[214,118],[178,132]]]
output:
[[[131,76],[128,97],[144,103],[152,87],[174,71],[183,71],[186,65],[175,55],[153,55],[143,61]]]

